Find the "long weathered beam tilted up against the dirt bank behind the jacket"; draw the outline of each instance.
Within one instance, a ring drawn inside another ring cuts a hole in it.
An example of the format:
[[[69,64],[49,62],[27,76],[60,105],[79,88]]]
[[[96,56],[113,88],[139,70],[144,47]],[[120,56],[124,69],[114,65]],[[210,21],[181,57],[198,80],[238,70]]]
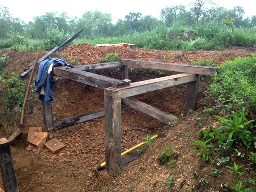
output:
[[[42,63],[45,59],[48,59],[49,56],[51,56],[52,54],[54,54],[55,52],[57,51],[60,51],[61,49],[63,49],[65,46],[67,46],[69,43],[71,43],[75,38],[78,37],[78,35],[83,31],[83,29],[81,29],[80,31],[78,31],[75,35],[73,35],[72,37],[70,37],[69,39],[67,39],[65,42],[63,42],[63,44],[61,44],[60,46],[58,47],[55,47],[54,49],[52,49],[50,52],[48,52],[47,54],[45,54],[42,58],[40,58],[37,63],[40,64]],[[23,72],[20,77],[21,78],[27,78],[31,72],[32,72],[32,69],[33,69],[33,66],[34,64],[32,64],[30,67],[29,67],[29,70]]]

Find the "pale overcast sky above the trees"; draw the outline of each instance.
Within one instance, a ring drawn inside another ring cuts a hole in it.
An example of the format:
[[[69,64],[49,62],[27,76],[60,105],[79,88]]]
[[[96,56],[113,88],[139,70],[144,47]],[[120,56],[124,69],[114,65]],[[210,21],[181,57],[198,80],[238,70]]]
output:
[[[9,9],[13,18],[18,17],[25,22],[33,21],[33,16],[44,15],[45,12],[58,12],[61,14],[63,11],[67,12],[68,16],[78,18],[82,17],[85,11],[94,11],[95,9],[104,13],[112,15],[113,23],[116,24],[118,18],[124,20],[125,15],[129,12],[140,12],[145,15],[152,15],[160,19],[161,8],[166,6],[183,4],[189,7],[189,3],[193,0],[85,0],[85,1],[67,1],[67,0],[0,0],[1,5],[6,6]],[[227,9],[232,9],[239,5],[244,7],[245,17],[256,15],[255,0],[213,0],[219,6],[224,6]],[[154,2],[154,3],[151,3]],[[254,3],[253,3],[254,2]]]

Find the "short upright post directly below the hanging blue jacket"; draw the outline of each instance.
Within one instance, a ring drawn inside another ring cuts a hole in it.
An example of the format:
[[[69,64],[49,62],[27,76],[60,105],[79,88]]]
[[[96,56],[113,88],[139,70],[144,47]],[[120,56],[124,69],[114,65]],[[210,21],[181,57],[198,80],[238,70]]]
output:
[[[46,131],[53,130],[53,118],[52,118],[52,105],[46,106],[44,102],[42,104],[42,113],[44,119],[44,128]]]

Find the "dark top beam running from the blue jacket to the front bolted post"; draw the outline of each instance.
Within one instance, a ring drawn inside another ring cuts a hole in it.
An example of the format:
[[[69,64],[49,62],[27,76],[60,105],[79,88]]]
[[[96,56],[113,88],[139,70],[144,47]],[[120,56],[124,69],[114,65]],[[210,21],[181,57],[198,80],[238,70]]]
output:
[[[106,89],[107,87],[120,88],[127,86],[127,82],[124,82],[123,80],[93,74],[86,71],[66,69],[65,67],[54,67],[52,75],[59,75],[67,79],[75,80],[101,89]]]

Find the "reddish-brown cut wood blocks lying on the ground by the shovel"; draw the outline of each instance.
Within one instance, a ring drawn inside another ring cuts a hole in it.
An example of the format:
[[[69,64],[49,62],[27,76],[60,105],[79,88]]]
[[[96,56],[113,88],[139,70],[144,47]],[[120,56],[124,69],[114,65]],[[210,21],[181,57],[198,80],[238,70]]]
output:
[[[45,143],[47,135],[48,133],[42,132],[42,127],[30,127],[27,134],[27,150],[41,151],[45,146],[50,152],[56,154],[66,148],[66,146],[57,139],[52,139]]]

